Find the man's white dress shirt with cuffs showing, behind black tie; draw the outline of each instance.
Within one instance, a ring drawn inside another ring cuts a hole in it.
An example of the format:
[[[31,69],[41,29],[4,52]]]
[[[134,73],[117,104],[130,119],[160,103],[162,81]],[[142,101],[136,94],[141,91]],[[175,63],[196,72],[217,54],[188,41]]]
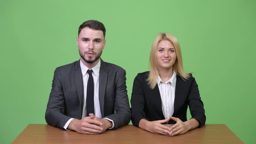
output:
[[[98,90],[99,90],[98,89],[98,85],[99,85],[99,69],[100,69],[100,65],[101,65],[101,60],[97,63],[97,65],[95,65],[92,68],[92,78],[93,78],[93,83],[94,83],[94,115],[96,117],[102,119],[102,113],[100,111],[99,98],[98,98]],[[89,68],[87,68],[82,63],[81,59],[80,59],[80,67],[81,67],[81,70],[82,70],[83,85],[84,85],[84,102],[83,102],[82,118],[85,118],[86,117],[87,82],[88,82],[88,79],[89,79],[89,74],[88,74],[87,70]],[[65,126],[63,128],[66,129],[73,119],[74,118],[70,118],[69,121],[66,122],[66,124],[65,124]],[[115,124],[114,124],[113,120],[111,120],[109,118],[105,118],[105,119],[107,119],[109,121],[112,121],[112,128],[115,127]]]

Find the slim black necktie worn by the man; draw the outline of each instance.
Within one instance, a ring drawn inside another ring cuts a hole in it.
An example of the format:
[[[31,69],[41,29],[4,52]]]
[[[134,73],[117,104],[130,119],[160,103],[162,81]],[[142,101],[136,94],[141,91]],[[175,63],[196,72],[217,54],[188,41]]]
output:
[[[87,95],[86,95],[86,116],[88,117],[90,113],[94,113],[94,83],[92,78],[92,69],[87,70],[89,74],[87,82]]]

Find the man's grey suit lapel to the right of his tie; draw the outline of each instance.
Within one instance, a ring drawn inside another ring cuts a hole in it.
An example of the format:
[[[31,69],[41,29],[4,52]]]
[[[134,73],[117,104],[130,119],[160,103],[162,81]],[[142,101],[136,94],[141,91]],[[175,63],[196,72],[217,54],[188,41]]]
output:
[[[105,99],[105,90],[107,86],[108,73],[106,63],[101,59],[101,66],[99,69],[99,85],[98,85],[98,98],[100,111],[102,113],[102,118],[104,117],[104,99]]]

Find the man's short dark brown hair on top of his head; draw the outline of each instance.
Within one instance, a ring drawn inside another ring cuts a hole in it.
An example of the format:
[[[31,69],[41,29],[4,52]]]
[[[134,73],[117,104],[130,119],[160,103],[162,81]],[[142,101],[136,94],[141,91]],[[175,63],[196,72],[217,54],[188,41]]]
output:
[[[101,30],[103,32],[103,35],[104,35],[104,38],[105,38],[105,35],[106,35],[106,29],[105,29],[105,26],[103,23],[97,21],[97,20],[87,20],[86,22],[82,23],[80,26],[79,26],[79,29],[78,29],[78,36],[81,32],[81,30],[85,27],[89,27],[90,29],[94,29],[94,30]]]

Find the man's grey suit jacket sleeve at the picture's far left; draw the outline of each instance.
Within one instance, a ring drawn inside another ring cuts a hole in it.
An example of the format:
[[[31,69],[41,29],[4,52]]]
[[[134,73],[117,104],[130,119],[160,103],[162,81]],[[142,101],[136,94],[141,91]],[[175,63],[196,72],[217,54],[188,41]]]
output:
[[[63,129],[63,126],[71,118],[63,115],[65,99],[62,89],[62,81],[59,69],[54,71],[52,90],[46,108],[45,119],[47,124]]]

